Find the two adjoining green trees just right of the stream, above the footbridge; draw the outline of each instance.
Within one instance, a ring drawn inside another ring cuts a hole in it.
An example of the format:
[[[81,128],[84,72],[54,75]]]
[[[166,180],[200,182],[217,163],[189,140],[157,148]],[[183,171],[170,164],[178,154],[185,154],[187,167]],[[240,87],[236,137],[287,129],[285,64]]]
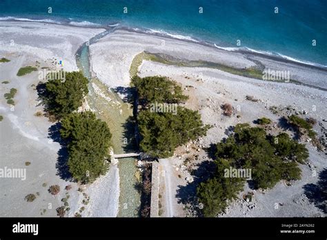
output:
[[[150,103],[178,104],[188,97],[175,81],[166,77],[134,77],[132,85],[137,89],[143,106],[137,117],[143,152],[152,157],[171,157],[175,148],[206,134],[201,115],[197,111],[178,106],[176,112],[153,112]]]

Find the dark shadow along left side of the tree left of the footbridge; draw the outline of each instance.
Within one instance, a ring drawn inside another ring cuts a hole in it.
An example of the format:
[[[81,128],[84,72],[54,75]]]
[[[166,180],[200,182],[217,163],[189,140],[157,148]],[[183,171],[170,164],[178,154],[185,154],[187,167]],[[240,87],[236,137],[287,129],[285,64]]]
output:
[[[61,148],[58,150],[58,159],[56,163],[57,175],[63,180],[73,181],[72,174],[69,172],[68,168],[68,148],[67,141],[62,139],[60,136],[60,128],[61,123],[57,122],[54,125],[50,126],[48,129],[48,138],[52,139],[52,141],[59,143]]]

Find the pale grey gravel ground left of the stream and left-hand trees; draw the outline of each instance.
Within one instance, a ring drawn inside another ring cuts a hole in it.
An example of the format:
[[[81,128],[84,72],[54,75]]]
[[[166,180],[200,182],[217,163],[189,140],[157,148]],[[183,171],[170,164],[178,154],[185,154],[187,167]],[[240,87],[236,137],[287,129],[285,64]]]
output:
[[[43,23],[0,22],[0,56],[11,61],[0,63],[0,168],[26,170],[26,179],[3,178],[0,181],[1,217],[56,217],[56,208],[63,206],[61,199],[68,199],[73,215],[79,210],[81,192],[76,183],[61,178],[57,170],[59,142],[49,137],[49,128],[54,125],[46,117],[34,114],[43,110],[37,101],[37,90],[41,67],[64,70],[77,70],[75,52],[81,44],[101,29],[66,27]],[[35,40],[37,39],[37,41]],[[63,66],[58,61],[63,61]],[[38,63],[37,63],[38,61]],[[17,77],[23,66],[37,66],[38,71]],[[9,81],[4,84],[2,81]],[[33,86],[34,84],[34,86]],[[16,88],[14,107],[6,103],[3,94]],[[26,166],[26,162],[30,162]],[[48,192],[51,185],[59,185],[56,196]],[[67,185],[71,190],[65,190]],[[36,199],[27,202],[27,194]]]

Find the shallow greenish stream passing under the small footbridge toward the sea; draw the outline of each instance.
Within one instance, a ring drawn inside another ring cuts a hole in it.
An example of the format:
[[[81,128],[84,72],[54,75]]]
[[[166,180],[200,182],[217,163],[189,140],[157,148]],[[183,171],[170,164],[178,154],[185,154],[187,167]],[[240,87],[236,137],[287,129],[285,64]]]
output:
[[[132,117],[132,108],[129,103],[123,102],[114,90],[108,88],[99,81],[92,78],[90,72],[90,52],[89,45],[97,42],[101,37],[110,34],[112,30],[102,32],[84,43],[77,51],[76,61],[78,68],[88,78],[88,105],[95,110],[97,117],[106,121],[112,133],[112,148],[115,154],[129,152],[132,149],[128,147],[127,126],[128,119]],[[135,188],[139,179],[137,179],[136,159],[119,159],[119,212],[117,217],[139,217],[139,207],[141,206],[141,195]]]

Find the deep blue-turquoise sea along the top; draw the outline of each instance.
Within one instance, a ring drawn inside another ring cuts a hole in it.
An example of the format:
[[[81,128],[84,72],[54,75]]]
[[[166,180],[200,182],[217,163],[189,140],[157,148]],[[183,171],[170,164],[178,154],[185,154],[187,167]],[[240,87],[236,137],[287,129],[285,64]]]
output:
[[[204,10],[199,14],[199,7]],[[275,14],[274,8],[279,8]],[[48,14],[52,7],[52,14]],[[127,14],[123,8],[127,7]],[[217,46],[279,53],[327,66],[325,0],[2,0],[0,19],[50,19],[79,26],[119,23]],[[312,40],[317,46],[312,46]]]

